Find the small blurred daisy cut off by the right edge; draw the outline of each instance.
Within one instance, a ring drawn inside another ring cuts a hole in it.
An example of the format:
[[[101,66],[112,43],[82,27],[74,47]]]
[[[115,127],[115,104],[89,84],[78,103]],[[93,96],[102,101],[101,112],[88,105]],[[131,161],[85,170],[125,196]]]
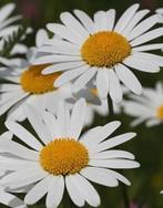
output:
[[[132,101],[125,101],[122,105],[128,115],[136,117],[132,122],[135,126],[145,122],[146,126],[163,123],[163,84],[157,82],[155,89],[144,89],[142,96],[130,95]]]

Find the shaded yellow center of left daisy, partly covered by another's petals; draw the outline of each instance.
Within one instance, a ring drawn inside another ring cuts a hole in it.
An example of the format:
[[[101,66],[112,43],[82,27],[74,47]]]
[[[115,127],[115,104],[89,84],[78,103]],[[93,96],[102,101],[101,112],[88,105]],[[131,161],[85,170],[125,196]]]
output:
[[[20,83],[24,92],[42,94],[54,90],[53,82],[61,75],[57,72],[42,75],[41,71],[49,64],[32,65],[21,74]]]

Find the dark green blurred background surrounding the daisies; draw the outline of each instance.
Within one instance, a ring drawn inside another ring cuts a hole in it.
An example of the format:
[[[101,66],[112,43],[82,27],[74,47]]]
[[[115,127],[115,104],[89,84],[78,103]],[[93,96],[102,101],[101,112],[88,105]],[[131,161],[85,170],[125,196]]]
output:
[[[8,3],[16,2],[16,13],[21,13],[29,20],[30,25],[34,29],[27,44],[34,44],[34,34],[37,29],[44,28],[48,22],[59,22],[59,15],[62,11],[72,11],[73,9],[82,9],[90,15],[98,10],[108,10],[115,8],[118,17],[130,7],[137,2],[141,8],[149,8],[154,12],[156,8],[163,7],[163,0],[0,0],[0,7]],[[161,39],[163,42],[163,39]],[[163,53],[162,53],[163,55]],[[143,86],[154,86],[159,80],[163,82],[163,69],[157,74],[135,73]],[[3,132],[3,118],[1,119],[1,132]],[[136,132],[137,136],[125,145],[121,145],[122,149],[126,149],[135,154],[136,159],[141,163],[141,168],[126,170],[124,175],[132,181],[132,186],[128,188],[131,199],[131,208],[163,208],[163,195],[160,190],[163,189],[163,125],[146,128],[144,125],[132,128],[130,127],[130,118],[126,115],[119,115],[111,117],[96,117],[95,125],[104,124],[111,119],[120,119],[123,125],[120,133]],[[102,205],[101,208],[123,208],[121,188],[105,188],[98,187],[101,193]],[[67,201],[68,206],[69,200]],[[0,207],[4,207],[1,206]],[[62,207],[62,205],[61,205]],[[71,207],[73,205],[71,204]],[[75,207],[75,206],[74,206]],[[31,208],[44,208],[41,201]]]

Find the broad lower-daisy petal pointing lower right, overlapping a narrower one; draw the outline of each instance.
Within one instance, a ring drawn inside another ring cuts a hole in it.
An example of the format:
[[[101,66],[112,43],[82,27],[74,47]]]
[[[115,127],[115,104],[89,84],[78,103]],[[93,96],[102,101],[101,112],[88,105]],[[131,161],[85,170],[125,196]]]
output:
[[[103,171],[102,168],[86,167],[82,169],[80,174],[84,176],[85,178],[88,178],[89,180],[103,185],[103,186],[115,187],[119,185],[118,180],[111,175]]]

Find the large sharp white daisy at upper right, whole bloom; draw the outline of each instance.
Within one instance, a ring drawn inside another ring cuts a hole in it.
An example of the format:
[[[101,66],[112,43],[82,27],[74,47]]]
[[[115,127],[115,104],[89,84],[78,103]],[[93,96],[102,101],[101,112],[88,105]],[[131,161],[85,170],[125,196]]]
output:
[[[43,74],[64,72],[54,85],[77,79],[73,91],[82,89],[90,80],[96,79],[96,87],[102,98],[108,93],[119,103],[122,100],[120,81],[135,94],[142,86],[130,67],[144,72],[159,72],[163,58],[149,53],[163,44],[145,44],[163,35],[163,28],[152,29],[157,23],[157,14],[143,19],[149,10],[137,11],[139,4],[130,7],[115,23],[115,10],[99,11],[92,20],[86,13],[74,10],[61,13],[63,24],[49,23],[47,28],[63,40],[49,40],[42,52],[48,52],[34,64],[50,62]]]

